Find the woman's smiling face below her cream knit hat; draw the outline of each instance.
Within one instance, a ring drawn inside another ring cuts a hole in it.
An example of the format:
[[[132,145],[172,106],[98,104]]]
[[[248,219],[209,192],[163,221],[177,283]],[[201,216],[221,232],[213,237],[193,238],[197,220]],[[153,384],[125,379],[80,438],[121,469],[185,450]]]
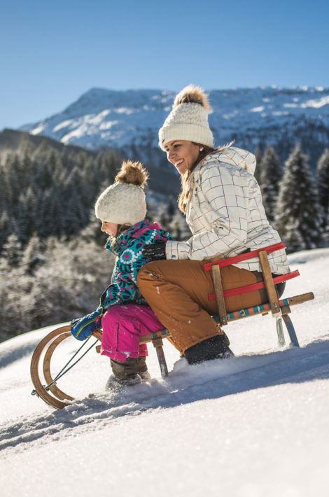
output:
[[[200,145],[187,140],[168,141],[165,149],[167,159],[176,167],[179,174],[184,174],[191,169],[200,154]]]

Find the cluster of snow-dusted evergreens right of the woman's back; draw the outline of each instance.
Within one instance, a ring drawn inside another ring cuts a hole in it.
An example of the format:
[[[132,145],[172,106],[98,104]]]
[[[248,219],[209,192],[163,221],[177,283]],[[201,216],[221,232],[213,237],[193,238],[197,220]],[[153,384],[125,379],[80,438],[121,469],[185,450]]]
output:
[[[283,167],[273,146],[256,155],[265,212],[288,252],[329,246],[329,149],[318,159],[315,176],[300,144]]]

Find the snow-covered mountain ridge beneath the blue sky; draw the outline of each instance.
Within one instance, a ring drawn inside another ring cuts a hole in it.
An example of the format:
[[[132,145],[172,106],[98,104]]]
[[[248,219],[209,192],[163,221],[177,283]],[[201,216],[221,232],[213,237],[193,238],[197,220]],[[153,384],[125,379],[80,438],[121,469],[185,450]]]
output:
[[[119,149],[159,165],[158,129],[169,113],[175,92],[113,91],[92,88],[64,111],[21,130],[45,134],[85,148]],[[255,87],[209,91],[209,116],[216,145],[235,139],[238,146],[276,146],[281,158],[302,141],[316,160],[329,146],[329,89],[323,87]]]

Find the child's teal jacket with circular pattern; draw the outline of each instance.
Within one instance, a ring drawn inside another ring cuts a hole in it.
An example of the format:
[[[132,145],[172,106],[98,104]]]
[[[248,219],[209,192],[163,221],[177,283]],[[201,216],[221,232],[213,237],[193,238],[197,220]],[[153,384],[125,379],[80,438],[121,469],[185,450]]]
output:
[[[101,297],[101,306],[104,310],[109,309],[111,305],[127,304],[127,302],[147,304],[137,286],[139,269],[149,262],[142,250],[146,245],[167,240],[172,240],[172,235],[162,230],[158,223],[150,224],[147,219],[133,225],[118,236],[113,247],[117,258],[111,284]],[[106,242],[105,248],[112,251],[111,239]]]

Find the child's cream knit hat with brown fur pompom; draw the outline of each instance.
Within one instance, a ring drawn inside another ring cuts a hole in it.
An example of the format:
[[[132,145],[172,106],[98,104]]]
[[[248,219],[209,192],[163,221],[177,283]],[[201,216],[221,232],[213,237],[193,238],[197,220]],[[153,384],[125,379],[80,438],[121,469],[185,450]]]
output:
[[[134,225],[146,216],[146,200],[143,186],[148,173],[140,162],[123,162],[113,185],[99,195],[94,206],[96,217],[101,221]]]

